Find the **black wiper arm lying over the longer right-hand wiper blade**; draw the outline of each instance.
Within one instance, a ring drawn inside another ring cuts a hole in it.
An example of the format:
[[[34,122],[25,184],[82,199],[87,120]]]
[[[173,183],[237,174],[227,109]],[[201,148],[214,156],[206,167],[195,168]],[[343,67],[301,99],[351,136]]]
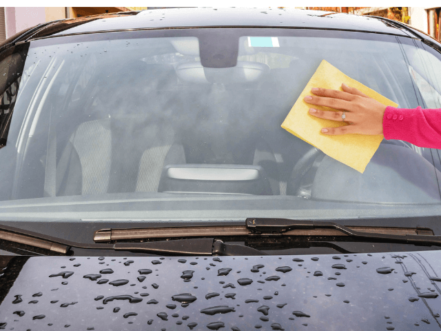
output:
[[[358,241],[380,241],[383,243],[409,243],[413,245],[435,245],[441,246],[441,236],[424,236],[418,234],[383,234],[373,232],[361,232],[347,228],[345,225],[325,221],[297,221],[293,219],[260,219],[249,218],[246,227],[253,232],[280,233],[290,230],[316,230],[331,228],[353,237]]]

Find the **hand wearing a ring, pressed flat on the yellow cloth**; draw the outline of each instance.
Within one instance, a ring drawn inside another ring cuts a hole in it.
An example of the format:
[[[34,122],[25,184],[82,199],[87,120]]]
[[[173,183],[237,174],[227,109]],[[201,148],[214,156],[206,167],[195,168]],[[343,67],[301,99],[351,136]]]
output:
[[[387,106],[368,97],[356,88],[346,86],[344,83],[342,89],[344,92],[326,88],[312,88],[311,92],[318,97],[307,96],[304,99],[306,103],[342,110],[335,112],[309,108],[309,114],[320,119],[341,122],[343,121],[343,111],[345,111],[345,123],[349,123],[348,126],[322,128],[322,133],[331,135],[383,134],[383,116]]]

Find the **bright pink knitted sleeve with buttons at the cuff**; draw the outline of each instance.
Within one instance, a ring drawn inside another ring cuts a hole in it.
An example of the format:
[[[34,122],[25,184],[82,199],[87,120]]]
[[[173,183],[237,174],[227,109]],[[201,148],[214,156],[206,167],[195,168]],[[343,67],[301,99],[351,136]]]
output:
[[[441,108],[404,109],[387,106],[383,116],[384,139],[398,139],[425,148],[441,149]]]

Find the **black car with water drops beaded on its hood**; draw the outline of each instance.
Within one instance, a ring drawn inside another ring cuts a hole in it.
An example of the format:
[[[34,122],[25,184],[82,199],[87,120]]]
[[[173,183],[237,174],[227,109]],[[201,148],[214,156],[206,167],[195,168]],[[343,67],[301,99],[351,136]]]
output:
[[[280,128],[322,59],[441,108],[427,34],[176,8],[0,52],[0,329],[441,327],[440,150],[383,141],[360,174]]]

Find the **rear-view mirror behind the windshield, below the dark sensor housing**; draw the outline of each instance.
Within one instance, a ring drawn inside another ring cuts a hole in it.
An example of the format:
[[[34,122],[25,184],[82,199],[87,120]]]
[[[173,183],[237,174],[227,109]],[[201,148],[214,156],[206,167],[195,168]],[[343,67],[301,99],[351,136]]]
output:
[[[176,74],[192,83],[240,84],[258,81],[269,70],[265,63],[249,61],[238,61],[232,68],[205,68],[201,62],[187,62],[176,68]]]

